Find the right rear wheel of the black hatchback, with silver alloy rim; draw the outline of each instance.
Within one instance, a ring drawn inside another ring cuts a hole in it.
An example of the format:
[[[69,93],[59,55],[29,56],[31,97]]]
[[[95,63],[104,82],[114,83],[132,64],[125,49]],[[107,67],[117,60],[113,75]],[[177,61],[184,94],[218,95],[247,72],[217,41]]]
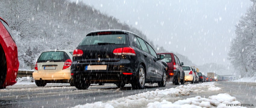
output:
[[[139,66],[137,76],[134,79],[134,82],[132,82],[132,88],[133,89],[143,89],[145,87],[145,69],[142,65]]]

